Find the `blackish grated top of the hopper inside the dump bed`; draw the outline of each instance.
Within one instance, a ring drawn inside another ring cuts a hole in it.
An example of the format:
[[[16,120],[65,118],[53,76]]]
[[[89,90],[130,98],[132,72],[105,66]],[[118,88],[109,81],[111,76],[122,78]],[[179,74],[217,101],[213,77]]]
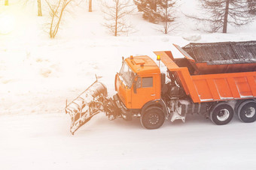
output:
[[[256,63],[256,41],[189,43],[182,47],[196,63],[244,64]]]

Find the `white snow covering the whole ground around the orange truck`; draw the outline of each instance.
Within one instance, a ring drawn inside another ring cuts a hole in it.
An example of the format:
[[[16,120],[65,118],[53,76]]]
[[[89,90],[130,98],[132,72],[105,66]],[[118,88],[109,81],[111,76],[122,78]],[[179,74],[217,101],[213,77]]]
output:
[[[183,0],[181,11],[197,11],[195,1]],[[181,28],[165,35],[136,11],[130,16],[136,31],[113,37],[102,26],[99,1],[93,1],[93,13],[82,1],[50,40],[44,32],[46,4],[38,17],[36,4],[14,2],[0,4],[0,17],[14,18],[8,33],[1,34],[0,26],[0,169],[256,168],[256,124],[236,116],[225,126],[189,115],[184,124],[166,121],[158,130],[145,130],[139,118],[108,121],[99,114],[72,136],[64,111],[66,100],[92,84],[95,74],[102,76],[108,95],[115,94],[122,56],[156,59],[153,51],[172,50],[180,58],[172,43],[256,40],[255,22],[231,27],[227,34],[207,34],[180,14]]]

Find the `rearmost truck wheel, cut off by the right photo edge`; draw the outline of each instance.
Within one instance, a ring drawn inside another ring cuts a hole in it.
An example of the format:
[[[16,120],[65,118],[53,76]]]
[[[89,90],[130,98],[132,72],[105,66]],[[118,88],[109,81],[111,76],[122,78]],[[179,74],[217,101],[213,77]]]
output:
[[[245,123],[256,121],[256,102],[247,100],[240,104],[237,115],[238,118]]]

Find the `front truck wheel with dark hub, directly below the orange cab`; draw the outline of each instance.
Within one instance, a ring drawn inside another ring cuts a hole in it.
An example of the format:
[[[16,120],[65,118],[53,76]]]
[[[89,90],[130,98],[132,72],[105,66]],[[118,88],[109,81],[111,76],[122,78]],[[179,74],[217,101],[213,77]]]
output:
[[[158,129],[163,125],[165,115],[159,107],[150,107],[141,116],[142,127],[148,130]]]

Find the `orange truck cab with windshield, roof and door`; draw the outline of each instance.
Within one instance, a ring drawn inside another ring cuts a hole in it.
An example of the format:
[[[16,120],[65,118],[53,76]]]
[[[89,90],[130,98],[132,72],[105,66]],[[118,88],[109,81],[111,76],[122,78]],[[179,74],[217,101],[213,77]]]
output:
[[[160,68],[151,58],[130,56],[115,76],[115,90],[126,109],[142,109],[161,98],[160,78]]]

